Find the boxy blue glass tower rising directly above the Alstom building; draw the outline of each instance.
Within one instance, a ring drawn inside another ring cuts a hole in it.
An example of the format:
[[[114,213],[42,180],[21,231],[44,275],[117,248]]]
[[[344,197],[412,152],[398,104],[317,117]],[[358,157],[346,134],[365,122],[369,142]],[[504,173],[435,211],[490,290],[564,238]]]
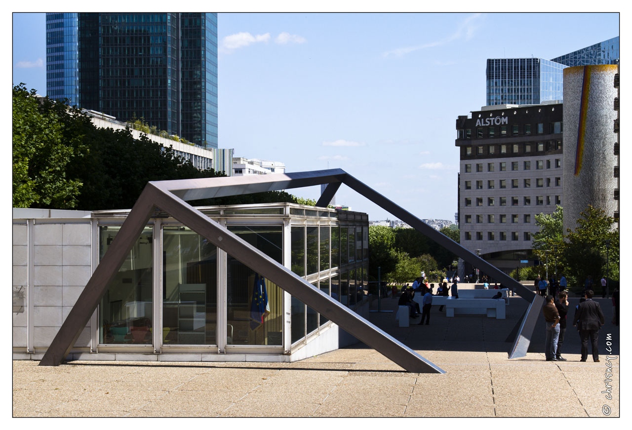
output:
[[[544,58],[487,59],[487,106],[562,99],[562,70]]]

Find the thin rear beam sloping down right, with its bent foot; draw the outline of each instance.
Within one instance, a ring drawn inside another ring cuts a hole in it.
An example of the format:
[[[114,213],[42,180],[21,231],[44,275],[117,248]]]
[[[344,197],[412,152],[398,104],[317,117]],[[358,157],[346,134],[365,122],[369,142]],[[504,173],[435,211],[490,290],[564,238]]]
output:
[[[514,290],[517,290],[522,298],[529,301],[530,305],[527,309],[525,317],[522,320],[520,329],[518,330],[518,334],[516,335],[516,339],[514,340],[513,347],[508,353],[510,359],[514,359],[516,357],[524,357],[526,355],[526,351],[529,348],[529,343],[531,342],[531,337],[533,335],[533,328],[535,328],[535,321],[540,314],[540,309],[542,308],[542,300],[538,299],[537,294],[533,293],[531,290],[526,288],[526,286],[522,285],[518,281],[509,277],[507,274],[500,271],[495,266],[492,266],[487,261],[478,257],[477,255],[474,255],[472,252],[465,249],[465,247],[461,246],[459,243],[454,242],[454,240],[452,240],[451,238],[428,226],[428,224],[424,223],[421,219],[404,210],[402,207],[394,204],[391,200],[387,199],[380,193],[376,192],[372,188],[367,187],[367,185],[358,181],[353,176],[344,176],[343,182],[348,185],[348,187],[356,190],[356,192],[362,194],[364,197],[367,197],[367,199],[391,212],[391,214],[397,216],[402,221],[405,221],[411,227],[415,228],[415,230],[419,231],[426,237],[439,243],[439,245],[442,245],[450,252],[458,255],[473,266],[483,269],[485,273],[489,273],[497,280],[500,280],[502,283],[513,286]]]

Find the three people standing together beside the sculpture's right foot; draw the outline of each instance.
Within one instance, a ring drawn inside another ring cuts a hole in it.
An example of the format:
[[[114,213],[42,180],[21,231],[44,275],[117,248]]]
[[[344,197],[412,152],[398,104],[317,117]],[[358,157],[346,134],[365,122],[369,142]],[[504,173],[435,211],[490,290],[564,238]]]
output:
[[[592,348],[593,361],[599,362],[599,329],[605,324],[604,312],[599,303],[592,300],[593,290],[586,290],[580,304],[575,308],[573,327],[576,327],[581,338],[581,360],[588,358],[588,341]],[[566,361],[561,355],[564,335],[566,334],[566,314],[568,314],[568,294],[559,292],[557,300],[547,295],[542,309],[546,321],[547,337],[544,355],[547,361]]]

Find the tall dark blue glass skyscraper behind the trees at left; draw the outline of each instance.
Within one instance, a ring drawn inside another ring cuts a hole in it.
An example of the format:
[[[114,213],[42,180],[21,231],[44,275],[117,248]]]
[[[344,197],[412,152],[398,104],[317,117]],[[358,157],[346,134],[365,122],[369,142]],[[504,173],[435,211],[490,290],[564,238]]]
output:
[[[217,148],[217,13],[47,13],[47,95]]]

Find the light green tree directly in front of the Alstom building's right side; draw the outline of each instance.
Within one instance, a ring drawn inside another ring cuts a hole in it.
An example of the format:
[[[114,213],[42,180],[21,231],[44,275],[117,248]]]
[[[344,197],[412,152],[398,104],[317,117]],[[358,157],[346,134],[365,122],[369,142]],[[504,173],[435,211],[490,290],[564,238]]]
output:
[[[564,209],[557,205],[555,212],[552,214],[537,214],[535,225],[540,231],[533,234],[533,254],[537,255],[540,261],[548,261],[554,263],[563,271],[561,267],[564,263],[564,228],[562,227],[562,218]],[[525,279],[525,278],[520,278]]]

